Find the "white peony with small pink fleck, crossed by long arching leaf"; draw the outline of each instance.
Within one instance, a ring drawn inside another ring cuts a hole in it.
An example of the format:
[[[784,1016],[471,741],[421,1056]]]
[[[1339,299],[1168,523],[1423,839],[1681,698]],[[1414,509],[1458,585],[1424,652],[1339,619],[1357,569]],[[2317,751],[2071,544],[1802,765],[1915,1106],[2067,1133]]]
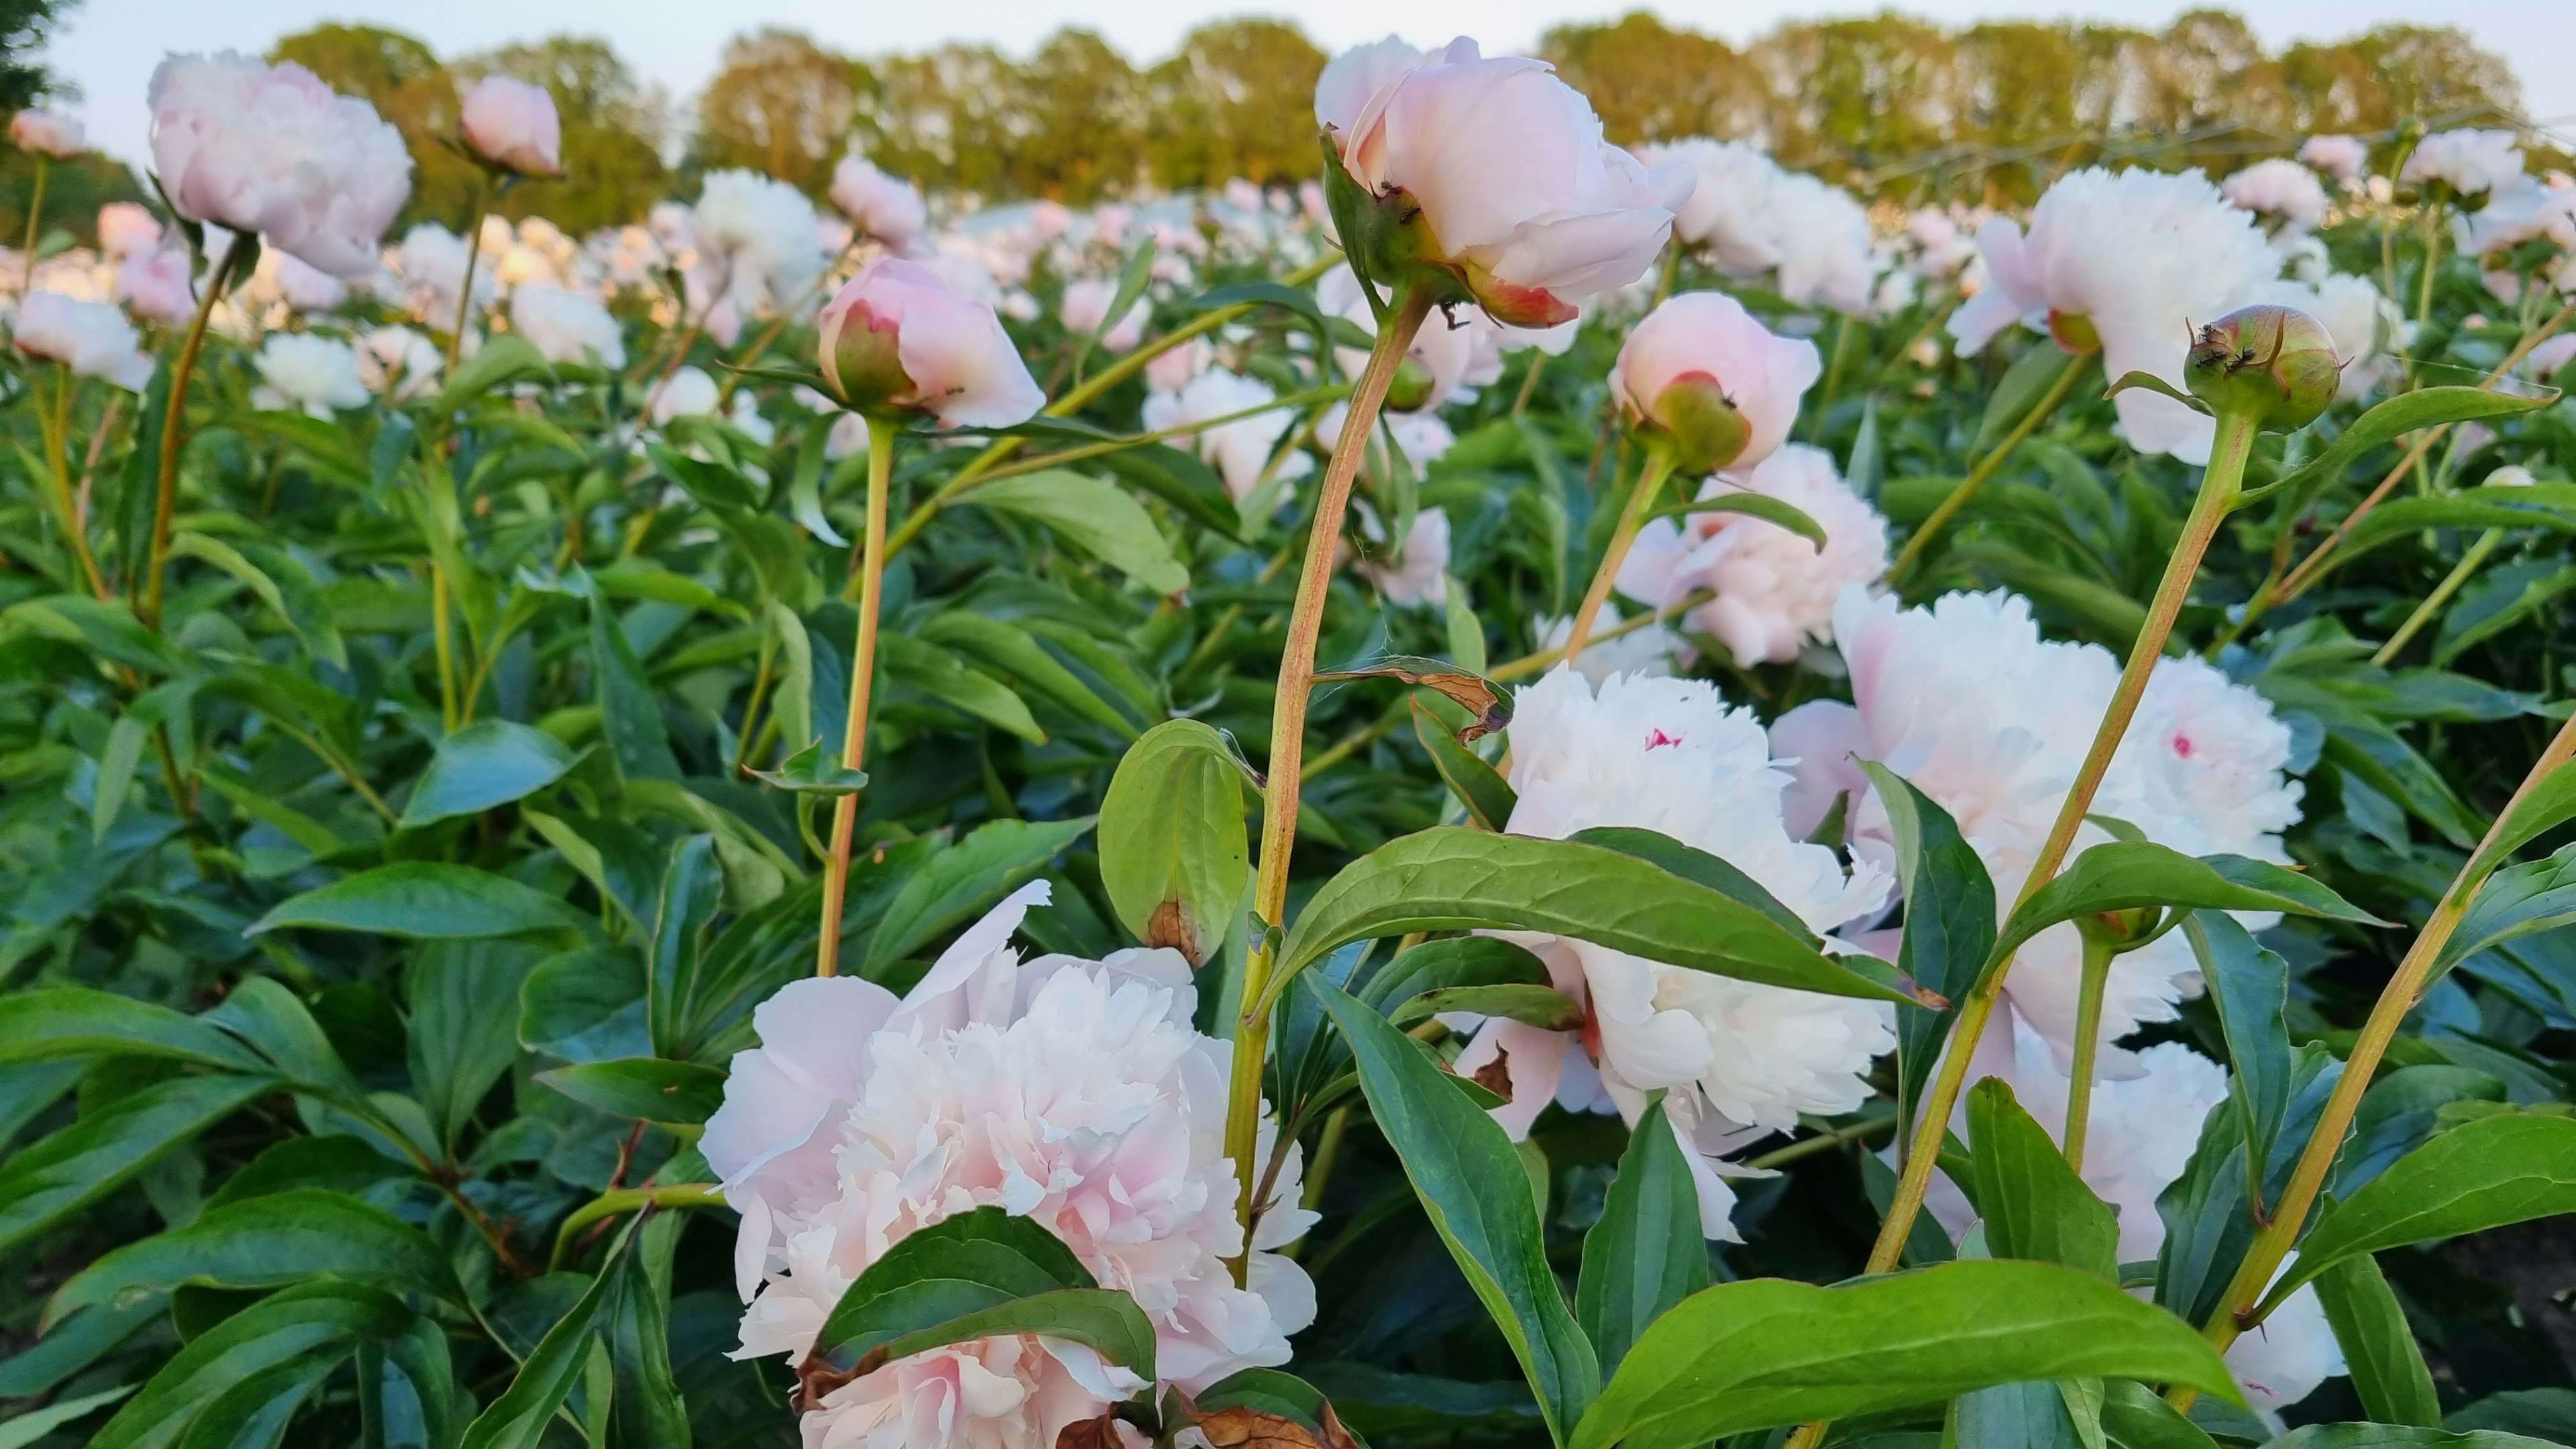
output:
[[[1710,683],[1610,676],[1595,688],[1558,665],[1517,694],[1510,745],[1515,835],[1659,830],[1736,866],[1814,931],[1870,915],[1888,897],[1878,866],[1844,871],[1826,846],[1790,838],[1780,815],[1788,773],[1772,766],[1759,719],[1728,709]],[[1589,941],[1510,938],[1584,1003],[1584,1026],[1486,1021],[1458,1070],[1510,1085],[1512,1101],[1494,1116],[1515,1137],[1548,1101],[1607,1101],[1633,1124],[1649,1091],[1672,1088],[1664,1111],[1690,1152],[1710,1238],[1736,1238],[1718,1158],[1795,1127],[1801,1111],[1852,1111],[1870,1096],[1870,1062],[1896,1044],[1886,1003],[1713,977]]]

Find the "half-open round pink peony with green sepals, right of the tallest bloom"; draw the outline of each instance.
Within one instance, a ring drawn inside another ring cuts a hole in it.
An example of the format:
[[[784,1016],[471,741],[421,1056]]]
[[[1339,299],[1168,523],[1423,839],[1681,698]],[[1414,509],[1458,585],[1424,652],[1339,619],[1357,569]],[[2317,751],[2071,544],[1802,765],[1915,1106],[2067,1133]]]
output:
[[[1749,469],[1788,438],[1821,374],[1816,343],[1772,335],[1723,291],[1685,291],[1620,343],[1610,397],[1680,443],[1685,472]]]

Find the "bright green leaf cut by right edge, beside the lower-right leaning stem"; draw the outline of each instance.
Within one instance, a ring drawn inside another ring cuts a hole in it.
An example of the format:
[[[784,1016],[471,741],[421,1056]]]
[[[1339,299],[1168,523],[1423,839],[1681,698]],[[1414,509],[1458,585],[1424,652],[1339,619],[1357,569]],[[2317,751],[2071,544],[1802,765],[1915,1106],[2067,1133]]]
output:
[[[2576,1116],[2501,1111],[2437,1132],[2329,1207],[2262,1310],[2357,1253],[2576,1212]]]

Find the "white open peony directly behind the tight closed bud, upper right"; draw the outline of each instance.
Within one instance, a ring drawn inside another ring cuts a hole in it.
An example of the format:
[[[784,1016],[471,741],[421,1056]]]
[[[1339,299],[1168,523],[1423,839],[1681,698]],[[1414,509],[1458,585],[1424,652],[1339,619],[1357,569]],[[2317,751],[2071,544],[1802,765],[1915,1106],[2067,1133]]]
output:
[[[1996,217],[1976,245],[1989,284],[1950,315],[1960,356],[2022,322],[2066,351],[2099,348],[2112,379],[2146,371],[2177,389],[2190,325],[2233,312],[2280,276],[2280,255],[2254,219],[2200,173],[2084,168],[2040,196],[2027,232]],[[2210,418],[2143,387],[2115,405],[2120,433],[2141,454],[2210,459]]]

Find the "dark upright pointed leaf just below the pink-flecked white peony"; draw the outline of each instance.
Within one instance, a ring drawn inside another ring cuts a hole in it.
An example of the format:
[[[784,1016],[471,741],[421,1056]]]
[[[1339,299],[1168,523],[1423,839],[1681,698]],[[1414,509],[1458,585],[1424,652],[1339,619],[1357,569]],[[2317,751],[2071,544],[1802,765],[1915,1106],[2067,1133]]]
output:
[[[1628,1346],[1672,1305],[1708,1287],[1700,1189],[1656,1091],[1628,1129],[1602,1217],[1584,1232],[1584,1271],[1574,1318],[1592,1338],[1602,1372],[1618,1372]]]

